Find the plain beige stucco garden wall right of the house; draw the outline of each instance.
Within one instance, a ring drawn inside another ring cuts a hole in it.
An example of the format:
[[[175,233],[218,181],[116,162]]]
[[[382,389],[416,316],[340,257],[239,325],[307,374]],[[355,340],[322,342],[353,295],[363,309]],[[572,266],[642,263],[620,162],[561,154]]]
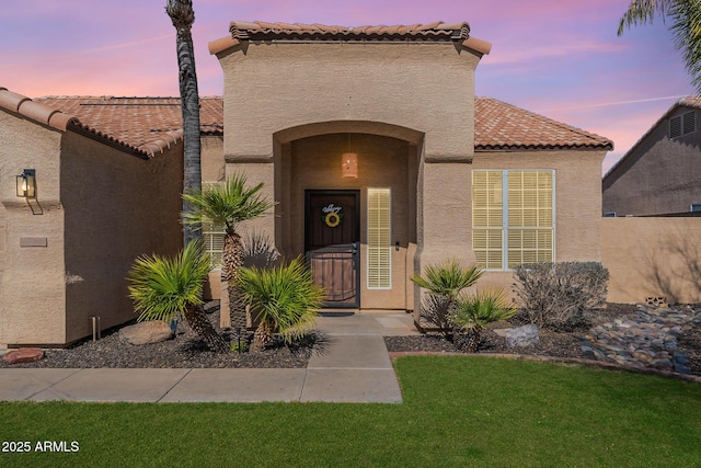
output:
[[[701,218],[604,218],[609,301],[701,303]]]

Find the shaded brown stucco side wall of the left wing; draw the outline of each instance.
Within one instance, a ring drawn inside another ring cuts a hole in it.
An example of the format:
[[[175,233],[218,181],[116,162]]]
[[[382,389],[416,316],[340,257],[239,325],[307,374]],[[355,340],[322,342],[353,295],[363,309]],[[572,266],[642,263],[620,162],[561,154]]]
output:
[[[141,254],[172,255],[182,247],[183,146],[150,160],[70,132],[61,150],[65,209],[66,341],[134,319],[128,272]]]

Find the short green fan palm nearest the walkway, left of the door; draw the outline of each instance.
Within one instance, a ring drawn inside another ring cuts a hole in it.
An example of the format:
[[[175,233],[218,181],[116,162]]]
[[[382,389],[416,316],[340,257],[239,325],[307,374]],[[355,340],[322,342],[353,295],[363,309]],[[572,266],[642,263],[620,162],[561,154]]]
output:
[[[275,333],[291,342],[312,329],[325,295],[299,258],[271,269],[243,267],[239,272],[239,287],[260,322],[253,351],[263,349]]]

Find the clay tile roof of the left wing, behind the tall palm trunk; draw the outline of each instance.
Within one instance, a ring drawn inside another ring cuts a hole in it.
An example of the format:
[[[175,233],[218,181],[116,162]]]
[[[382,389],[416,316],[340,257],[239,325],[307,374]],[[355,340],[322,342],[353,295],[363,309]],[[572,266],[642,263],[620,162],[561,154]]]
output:
[[[179,98],[46,96],[46,107],[77,117],[72,130],[152,157],[183,139]],[[200,98],[203,134],[223,133],[221,98]]]

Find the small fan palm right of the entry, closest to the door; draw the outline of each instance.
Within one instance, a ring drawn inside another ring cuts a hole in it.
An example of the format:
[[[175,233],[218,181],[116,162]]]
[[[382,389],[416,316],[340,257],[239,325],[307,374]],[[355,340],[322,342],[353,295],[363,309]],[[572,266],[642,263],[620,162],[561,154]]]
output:
[[[411,277],[417,286],[427,289],[422,315],[441,330],[451,328],[450,317],[462,289],[472,286],[483,271],[476,265],[463,266],[458,260],[447,260],[438,265],[428,265],[424,276]]]

